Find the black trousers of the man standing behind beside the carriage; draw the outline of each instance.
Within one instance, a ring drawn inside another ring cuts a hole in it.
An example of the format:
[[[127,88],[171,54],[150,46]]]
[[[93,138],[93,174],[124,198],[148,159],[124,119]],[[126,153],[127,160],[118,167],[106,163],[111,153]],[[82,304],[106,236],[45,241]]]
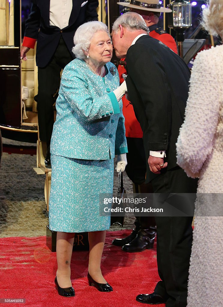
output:
[[[38,67],[38,95],[37,101],[38,124],[40,139],[50,144],[53,131],[55,94],[60,86],[60,72],[73,60],[61,36],[57,49],[44,68]]]

